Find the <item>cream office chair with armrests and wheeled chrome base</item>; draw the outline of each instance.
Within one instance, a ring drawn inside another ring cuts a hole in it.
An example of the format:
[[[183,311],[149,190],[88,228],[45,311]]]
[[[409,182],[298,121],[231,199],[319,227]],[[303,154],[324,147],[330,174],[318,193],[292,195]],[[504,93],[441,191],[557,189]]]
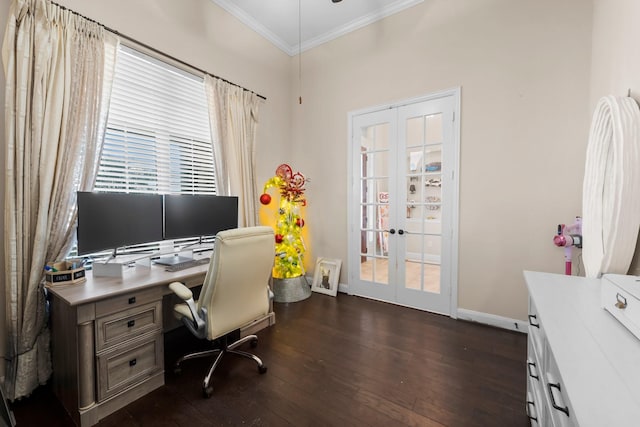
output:
[[[235,331],[256,330],[254,324],[268,325],[275,319],[271,311],[272,293],[269,278],[275,256],[274,234],[270,227],[247,227],[218,233],[209,270],[197,301],[191,290],[180,282],[173,282],[169,288],[184,301],[176,304],[174,315],[182,320],[198,338],[217,341],[220,348],[182,356],[175,363],[176,372],[180,363],[188,359],[217,354],[202,384],[205,397],[210,397],[213,387],[211,376],[226,353],[253,359],[258,364],[258,372],[264,374],[267,367],[257,356],[236,350],[240,345],[251,342],[255,347],[258,338],[248,335],[229,344],[229,334]]]

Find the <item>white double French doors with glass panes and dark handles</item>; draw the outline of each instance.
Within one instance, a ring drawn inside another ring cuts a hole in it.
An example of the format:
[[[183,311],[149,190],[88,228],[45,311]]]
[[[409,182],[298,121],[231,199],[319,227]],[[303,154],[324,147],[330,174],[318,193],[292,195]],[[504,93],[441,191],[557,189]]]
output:
[[[458,96],[351,114],[350,293],[452,314]]]

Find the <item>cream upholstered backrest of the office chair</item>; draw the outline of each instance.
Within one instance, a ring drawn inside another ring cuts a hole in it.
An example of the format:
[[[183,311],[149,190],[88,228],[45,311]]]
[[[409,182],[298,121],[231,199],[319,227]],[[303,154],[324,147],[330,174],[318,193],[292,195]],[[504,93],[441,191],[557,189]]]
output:
[[[207,309],[207,338],[234,331],[269,312],[269,278],[275,256],[270,227],[245,227],[216,235],[198,309]]]

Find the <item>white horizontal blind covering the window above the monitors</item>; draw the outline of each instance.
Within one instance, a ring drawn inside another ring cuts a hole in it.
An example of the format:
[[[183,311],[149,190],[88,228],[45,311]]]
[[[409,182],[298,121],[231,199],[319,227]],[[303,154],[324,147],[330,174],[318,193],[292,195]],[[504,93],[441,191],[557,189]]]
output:
[[[94,191],[216,194],[200,77],[120,47]]]

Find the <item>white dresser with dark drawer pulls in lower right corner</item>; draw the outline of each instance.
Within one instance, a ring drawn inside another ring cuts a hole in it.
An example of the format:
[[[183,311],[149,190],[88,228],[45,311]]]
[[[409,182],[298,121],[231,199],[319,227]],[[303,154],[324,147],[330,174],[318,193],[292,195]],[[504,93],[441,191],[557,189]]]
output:
[[[601,280],[524,272],[532,426],[640,426],[640,340],[601,306]]]

